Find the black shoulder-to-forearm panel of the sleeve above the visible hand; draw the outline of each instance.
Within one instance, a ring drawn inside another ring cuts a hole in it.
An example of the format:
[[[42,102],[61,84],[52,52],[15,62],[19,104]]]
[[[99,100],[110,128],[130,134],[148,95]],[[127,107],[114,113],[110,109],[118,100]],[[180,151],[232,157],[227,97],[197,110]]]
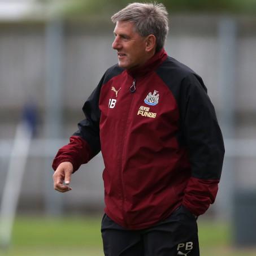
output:
[[[112,77],[122,72],[123,70],[117,65],[112,66],[106,71],[101,81],[99,81],[96,89],[94,89],[92,94],[84,103],[83,112],[85,119],[78,123],[78,131],[73,134],[74,136],[82,137],[88,142],[92,149],[92,157],[101,151],[101,142],[99,139],[99,119],[101,118],[101,111],[99,110],[99,96],[101,88]]]

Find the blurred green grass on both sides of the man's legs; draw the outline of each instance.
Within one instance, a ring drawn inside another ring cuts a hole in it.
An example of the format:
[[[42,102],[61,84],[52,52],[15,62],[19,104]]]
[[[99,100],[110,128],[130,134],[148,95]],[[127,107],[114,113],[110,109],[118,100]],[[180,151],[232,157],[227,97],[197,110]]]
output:
[[[103,256],[101,218],[47,219],[19,217],[12,243],[2,256]],[[198,221],[201,256],[255,256],[256,250],[232,248],[228,223]],[[157,255],[156,255],[157,256]]]

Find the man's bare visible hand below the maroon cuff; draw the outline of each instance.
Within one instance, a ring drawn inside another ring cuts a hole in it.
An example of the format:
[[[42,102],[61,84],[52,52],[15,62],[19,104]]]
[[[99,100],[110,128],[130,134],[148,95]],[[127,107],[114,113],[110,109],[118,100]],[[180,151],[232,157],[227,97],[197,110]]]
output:
[[[70,184],[72,173],[73,173],[72,163],[70,162],[60,163],[53,175],[54,189],[62,193],[70,191],[72,188],[68,185]]]

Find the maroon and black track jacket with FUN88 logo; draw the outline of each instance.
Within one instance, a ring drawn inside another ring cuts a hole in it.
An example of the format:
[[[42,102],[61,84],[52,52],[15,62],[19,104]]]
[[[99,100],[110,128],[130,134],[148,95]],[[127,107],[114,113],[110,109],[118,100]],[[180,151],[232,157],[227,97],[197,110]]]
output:
[[[144,67],[109,68],[85,102],[79,131],[53,162],[77,170],[102,151],[105,212],[147,228],[184,205],[195,215],[214,202],[224,144],[201,77],[162,50]]]

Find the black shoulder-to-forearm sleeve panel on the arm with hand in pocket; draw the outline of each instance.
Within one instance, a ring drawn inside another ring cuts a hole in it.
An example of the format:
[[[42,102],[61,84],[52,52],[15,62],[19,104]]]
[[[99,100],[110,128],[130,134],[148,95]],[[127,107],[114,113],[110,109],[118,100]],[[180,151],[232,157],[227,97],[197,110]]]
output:
[[[156,72],[176,99],[180,113],[176,137],[180,146],[188,149],[192,176],[219,179],[224,157],[223,137],[201,77],[171,57]]]

